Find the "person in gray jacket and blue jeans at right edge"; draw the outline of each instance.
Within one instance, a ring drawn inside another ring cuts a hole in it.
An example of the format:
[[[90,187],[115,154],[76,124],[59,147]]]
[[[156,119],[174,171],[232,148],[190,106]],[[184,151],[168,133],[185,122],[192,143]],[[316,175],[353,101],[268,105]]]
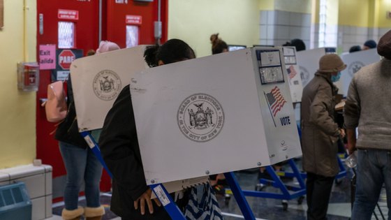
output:
[[[345,104],[349,154],[357,150],[352,220],[371,219],[383,184],[391,210],[391,31],[381,37],[377,50],[384,58],[355,73]]]

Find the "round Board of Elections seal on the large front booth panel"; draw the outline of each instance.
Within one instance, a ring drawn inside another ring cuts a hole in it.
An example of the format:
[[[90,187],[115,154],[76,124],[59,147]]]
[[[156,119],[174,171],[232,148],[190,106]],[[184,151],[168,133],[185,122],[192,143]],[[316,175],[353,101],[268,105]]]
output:
[[[177,122],[181,132],[195,142],[207,142],[219,135],[224,111],[219,101],[208,94],[193,94],[179,106]]]

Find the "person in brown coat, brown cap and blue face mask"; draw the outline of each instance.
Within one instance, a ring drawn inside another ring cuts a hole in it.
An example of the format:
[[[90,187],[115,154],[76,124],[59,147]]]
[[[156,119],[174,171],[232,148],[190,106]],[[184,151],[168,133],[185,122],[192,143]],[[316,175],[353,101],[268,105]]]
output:
[[[346,64],[337,54],[320,58],[319,69],[303,89],[301,124],[303,169],[307,172],[307,219],[326,219],[334,177],[339,173],[337,140],[345,132],[334,122],[337,82]]]

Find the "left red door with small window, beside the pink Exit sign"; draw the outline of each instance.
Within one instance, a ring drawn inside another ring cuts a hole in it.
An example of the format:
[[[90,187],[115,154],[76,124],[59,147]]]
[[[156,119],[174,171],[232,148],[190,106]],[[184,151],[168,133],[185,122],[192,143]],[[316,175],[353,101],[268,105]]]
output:
[[[98,1],[38,0],[37,9],[38,18],[43,17],[42,22],[38,19],[38,49],[39,45],[53,44],[57,45],[57,49],[80,49],[85,54],[88,50],[98,48]],[[40,24],[43,24],[43,27],[40,27]],[[47,85],[51,83],[51,71],[40,71],[39,80],[36,109],[37,158],[53,167],[53,198],[56,200],[56,197],[62,197],[66,170],[58,142],[54,140],[54,134],[50,135],[56,123],[47,122],[45,108],[40,106],[40,98],[47,98]],[[110,177],[106,176],[101,182],[102,191],[110,191]]]

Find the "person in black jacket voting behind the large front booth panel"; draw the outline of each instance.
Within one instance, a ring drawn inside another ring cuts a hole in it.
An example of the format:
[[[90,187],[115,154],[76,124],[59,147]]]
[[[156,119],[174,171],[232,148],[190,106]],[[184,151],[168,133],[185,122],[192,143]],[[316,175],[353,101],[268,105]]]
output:
[[[148,47],[144,56],[150,67],[195,58],[191,47],[178,39]],[[145,182],[129,85],[122,89],[105,118],[99,146],[113,175],[112,212],[123,220],[171,219],[157,198],[150,199],[152,189]]]

